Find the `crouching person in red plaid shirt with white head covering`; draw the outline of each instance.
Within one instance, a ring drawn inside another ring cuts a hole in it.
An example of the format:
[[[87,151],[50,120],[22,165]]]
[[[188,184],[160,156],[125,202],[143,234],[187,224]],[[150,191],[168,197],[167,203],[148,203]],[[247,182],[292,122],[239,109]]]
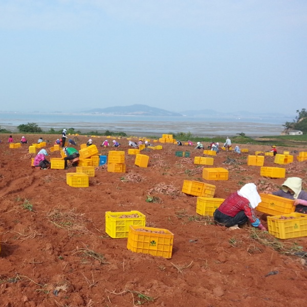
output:
[[[250,221],[252,226],[266,231],[267,229],[261,224],[254,212],[260,202],[256,185],[247,183],[239,191],[230,194],[214,211],[214,221],[217,225],[226,227],[236,227]]]

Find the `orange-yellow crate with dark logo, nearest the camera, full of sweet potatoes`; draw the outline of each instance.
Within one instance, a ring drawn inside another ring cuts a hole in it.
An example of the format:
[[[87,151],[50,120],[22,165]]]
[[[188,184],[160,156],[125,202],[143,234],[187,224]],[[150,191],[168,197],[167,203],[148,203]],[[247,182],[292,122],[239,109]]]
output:
[[[138,229],[150,230],[138,231]],[[153,231],[163,231],[157,233]],[[127,249],[142,254],[150,254],[164,258],[171,258],[174,235],[167,229],[152,227],[129,227]]]

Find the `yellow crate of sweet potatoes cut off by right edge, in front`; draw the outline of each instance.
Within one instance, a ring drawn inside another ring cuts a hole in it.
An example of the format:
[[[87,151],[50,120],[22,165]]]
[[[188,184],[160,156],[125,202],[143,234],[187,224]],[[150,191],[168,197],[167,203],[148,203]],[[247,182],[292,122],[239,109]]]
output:
[[[269,233],[279,239],[290,239],[307,236],[307,214],[290,213],[282,214],[284,217],[294,218],[281,219],[281,215],[268,216]]]

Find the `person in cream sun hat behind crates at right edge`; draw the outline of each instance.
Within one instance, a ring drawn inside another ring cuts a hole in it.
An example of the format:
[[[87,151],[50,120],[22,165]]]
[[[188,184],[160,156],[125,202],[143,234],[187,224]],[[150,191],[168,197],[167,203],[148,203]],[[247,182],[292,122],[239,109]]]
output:
[[[302,190],[301,178],[289,177],[282,184],[281,190],[273,192],[272,194],[289,200],[294,200],[295,212],[307,214],[307,192]]]

